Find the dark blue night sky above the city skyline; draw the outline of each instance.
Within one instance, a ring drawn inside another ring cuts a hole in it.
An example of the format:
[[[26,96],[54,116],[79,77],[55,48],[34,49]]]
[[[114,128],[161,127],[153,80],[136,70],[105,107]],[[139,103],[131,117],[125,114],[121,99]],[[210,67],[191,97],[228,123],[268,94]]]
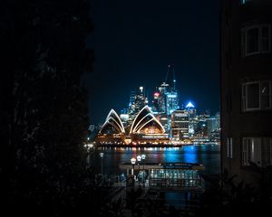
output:
[[[130,91],[151,93],[175,64],[180,106],[219,111],[219,0],[93,0],[95,55],[89,90],[91,124],[127,108]],[[150,103],[151,106],[151,103]]]

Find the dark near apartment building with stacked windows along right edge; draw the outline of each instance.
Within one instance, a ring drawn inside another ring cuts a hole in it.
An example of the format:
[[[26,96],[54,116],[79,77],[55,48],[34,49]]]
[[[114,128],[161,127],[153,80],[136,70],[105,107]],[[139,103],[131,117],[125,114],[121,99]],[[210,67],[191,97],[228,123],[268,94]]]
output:
[[[256,166],[272,165],[272,1],[224,0],[221,11],[222,169],[257,185]]]

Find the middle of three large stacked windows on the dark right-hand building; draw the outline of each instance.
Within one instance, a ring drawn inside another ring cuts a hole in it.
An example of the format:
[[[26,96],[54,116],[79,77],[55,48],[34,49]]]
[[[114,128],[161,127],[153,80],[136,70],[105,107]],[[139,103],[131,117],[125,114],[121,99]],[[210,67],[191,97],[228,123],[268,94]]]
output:
[[[242,84],[242,111],[271,109],[271,82],[254,81]]]

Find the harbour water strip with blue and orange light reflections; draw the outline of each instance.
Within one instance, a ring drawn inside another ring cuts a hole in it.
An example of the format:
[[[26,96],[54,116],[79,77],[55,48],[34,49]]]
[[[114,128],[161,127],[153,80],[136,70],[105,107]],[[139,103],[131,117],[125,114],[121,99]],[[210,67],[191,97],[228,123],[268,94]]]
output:
[[[103,152],[103,173],[121,174],[119,164],[130,163],[131,157],[146,155],[146,163],[199,163],[205,165],[205,174],[219,174],[220,146],[183,146],[183,147],[112,147],[98,150],[92,159],[94,172],[101,171],[101,157]]]

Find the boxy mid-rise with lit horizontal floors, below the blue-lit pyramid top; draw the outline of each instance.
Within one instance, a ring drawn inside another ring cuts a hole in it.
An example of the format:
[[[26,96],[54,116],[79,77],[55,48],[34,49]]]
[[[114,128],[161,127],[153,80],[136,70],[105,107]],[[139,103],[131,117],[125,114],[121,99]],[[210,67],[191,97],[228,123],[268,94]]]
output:
[[[171,114],[171,137],[174,140],[189,138],[188,110],[175,110]]]

